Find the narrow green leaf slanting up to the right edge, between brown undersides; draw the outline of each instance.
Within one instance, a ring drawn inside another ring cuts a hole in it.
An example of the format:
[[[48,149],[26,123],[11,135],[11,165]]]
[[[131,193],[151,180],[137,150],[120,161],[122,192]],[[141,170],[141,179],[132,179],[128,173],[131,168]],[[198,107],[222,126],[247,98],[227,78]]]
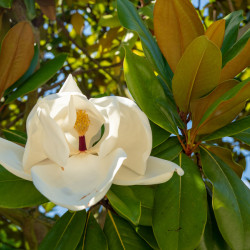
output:
[[[203,117],[200,120],[198,126],[200,126],[215,110],[216,108],[224,101],[227,101],[233,98],[243,87],[250,83],[250,77],[245,81],[238,83],[235,87],[231,88],[225,94],[223,94],[220,98],[218,98],[204,113]]]

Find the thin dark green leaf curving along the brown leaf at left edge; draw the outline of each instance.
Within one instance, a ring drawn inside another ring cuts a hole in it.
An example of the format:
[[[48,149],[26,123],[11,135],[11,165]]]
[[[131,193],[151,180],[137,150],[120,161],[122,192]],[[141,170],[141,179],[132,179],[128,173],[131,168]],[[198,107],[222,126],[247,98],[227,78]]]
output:
[[[21,86],[35,71],[37,63],[39,60],[39,47],[35,45],[34,47],[34,56],[31,60],[30,66],[28,70],[24,73],[24,75],[19,78],[13,85],[11,85],[8,89],[5,90],[4,96],[10,94],[14,89]]]

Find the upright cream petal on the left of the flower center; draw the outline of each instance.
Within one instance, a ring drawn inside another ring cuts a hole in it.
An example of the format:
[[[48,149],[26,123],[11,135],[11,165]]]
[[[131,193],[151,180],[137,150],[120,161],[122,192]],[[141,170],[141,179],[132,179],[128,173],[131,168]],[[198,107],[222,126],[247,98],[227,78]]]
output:
[[[36,163],[51,159],[65,165],[69,146],[62,129],[50,116],[47,102],[40,102],[27,126],[28,140],[25,146],[23,166],[26,171]]]

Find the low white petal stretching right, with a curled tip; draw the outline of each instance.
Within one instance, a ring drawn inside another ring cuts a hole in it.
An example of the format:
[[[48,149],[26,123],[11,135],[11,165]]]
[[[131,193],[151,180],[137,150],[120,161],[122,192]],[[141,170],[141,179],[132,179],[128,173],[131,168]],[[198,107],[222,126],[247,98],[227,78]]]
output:
[[[180,176],[184,174],[182,168],[175,163],[150,156],[145,175],[138,175],[128,168],[120,168],[113,183],[117,185],[159,184],[168,181],[174,172],[177,172]]]

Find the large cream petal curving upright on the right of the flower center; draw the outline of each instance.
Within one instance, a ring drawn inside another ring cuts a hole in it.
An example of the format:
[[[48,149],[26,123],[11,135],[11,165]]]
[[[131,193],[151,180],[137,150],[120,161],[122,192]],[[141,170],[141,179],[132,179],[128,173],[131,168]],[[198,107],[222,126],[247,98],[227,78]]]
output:
[[[99,153],[105,155],[120,147],[127,154],[124,165],[143,175],[152,149],[152,132],[146,115],[127,98],[109,96],[90,101],[106,117],[107,131],[99,142]]]

